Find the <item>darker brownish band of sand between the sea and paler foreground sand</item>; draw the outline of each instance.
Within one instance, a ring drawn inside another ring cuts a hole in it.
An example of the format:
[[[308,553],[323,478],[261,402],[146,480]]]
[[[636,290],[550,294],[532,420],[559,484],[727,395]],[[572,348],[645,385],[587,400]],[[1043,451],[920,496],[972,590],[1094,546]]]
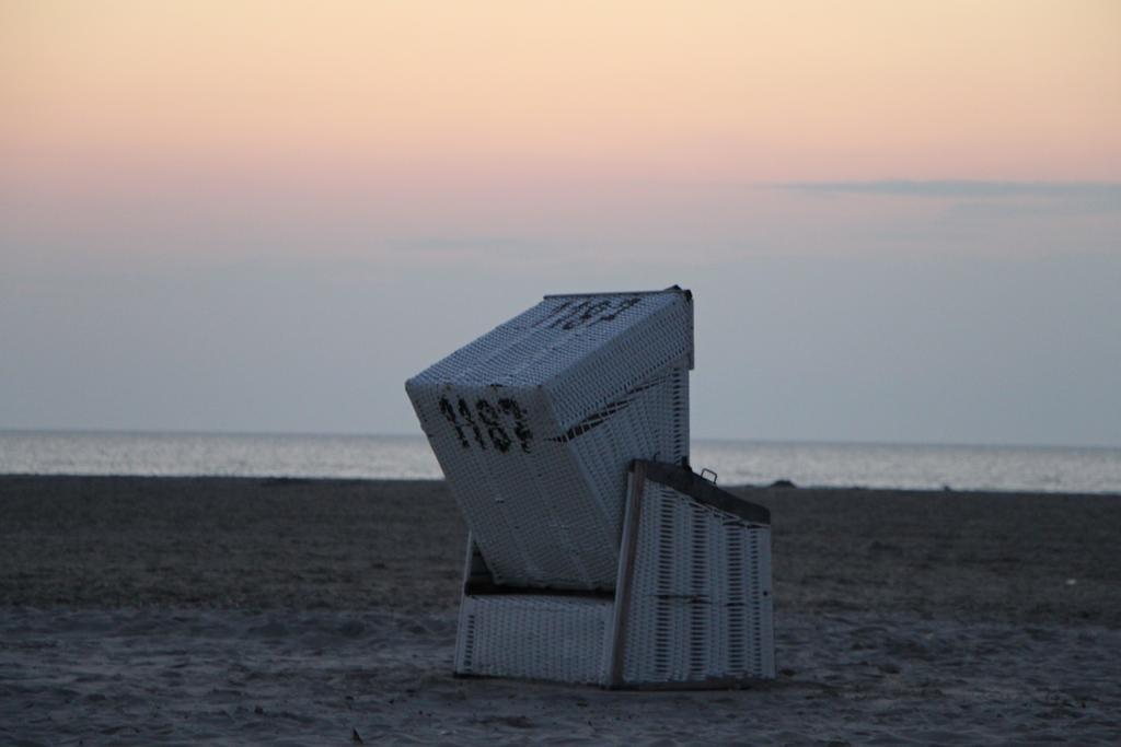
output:
[[[1121,496],[742,492],[779,611],[1121,627]],[[437,482],[0,477],[0,605],[452,610],[465,535]]]

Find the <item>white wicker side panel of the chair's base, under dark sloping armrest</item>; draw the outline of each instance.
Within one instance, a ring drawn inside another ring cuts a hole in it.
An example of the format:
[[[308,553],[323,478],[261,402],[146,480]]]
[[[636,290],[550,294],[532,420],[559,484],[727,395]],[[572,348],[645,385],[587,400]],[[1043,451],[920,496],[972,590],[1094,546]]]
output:
[[[775,676],[770,529],[645,483],[628,683]]]

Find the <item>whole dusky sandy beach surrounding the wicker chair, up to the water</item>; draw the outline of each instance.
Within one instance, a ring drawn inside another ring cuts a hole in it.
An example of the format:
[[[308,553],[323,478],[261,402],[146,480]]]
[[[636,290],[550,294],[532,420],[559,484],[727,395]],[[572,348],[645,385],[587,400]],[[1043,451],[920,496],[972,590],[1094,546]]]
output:
[[[742,488],[773,683],[451,675],[437,482],[0,477],[0,744],[1117,744],[1121,496]]]

